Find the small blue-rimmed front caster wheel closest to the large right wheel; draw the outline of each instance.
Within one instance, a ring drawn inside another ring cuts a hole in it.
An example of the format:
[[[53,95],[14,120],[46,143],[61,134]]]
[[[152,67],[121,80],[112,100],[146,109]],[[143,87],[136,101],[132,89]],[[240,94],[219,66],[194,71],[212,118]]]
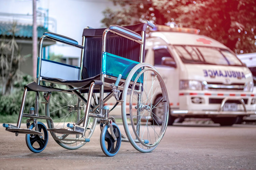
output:
[[[109,124],[105,124],[100,134],[100,146],[107,156],[115,156],[121,146],[121,133],[118,126],[112,123],[114,134],[117,138],[115,141],[111,135]]]

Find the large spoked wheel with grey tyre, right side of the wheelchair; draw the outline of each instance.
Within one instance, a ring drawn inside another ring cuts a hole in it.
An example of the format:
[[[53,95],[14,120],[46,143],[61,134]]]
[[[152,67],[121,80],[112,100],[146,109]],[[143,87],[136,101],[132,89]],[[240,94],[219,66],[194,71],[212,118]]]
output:
[[[161,105],[153,103],[159,95],[158,103]],[[167,90],[152,65],[141,63],[130,71],[122,100],[122,119],[127,138],[138,151],[151,152],[165,134],[169,118]],[[162,112],[162,116],[159,117],[156,111]]]

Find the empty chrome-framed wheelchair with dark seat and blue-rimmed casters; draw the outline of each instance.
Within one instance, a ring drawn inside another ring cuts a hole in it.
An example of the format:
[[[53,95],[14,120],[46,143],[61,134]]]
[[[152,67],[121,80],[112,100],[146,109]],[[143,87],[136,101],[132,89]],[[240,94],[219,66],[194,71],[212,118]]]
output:
[[[154,150],[167,128],[169,101],[158,71],[143,63],[147,26],[154,28],[149,21],[107,29],[86,27],[82,45],[66,36],[44,33],[39,42],[37,82],[24,86],[17,125],[4,123],[5,130],[16,136],[26,134],[26,144],[35,153],[45,149],[48,132],[61,147],[73,150],[90,141],[100,119],[105,155],[114,156],[121,141],[143,153]],[[45,38],[81,49],[80,67],[43,59]],[[35,107],[23,113],[28,91],[35,92]],[[107,103],[112,97],[116,104],[110,109]],[[126,136],[109,115],[118,103]],[[39,104],[45,105],[45,115],[39,115]],[[23,117],[28,118],[26,129],[20,128]],[[46,120],[47,126],[38,119]]]

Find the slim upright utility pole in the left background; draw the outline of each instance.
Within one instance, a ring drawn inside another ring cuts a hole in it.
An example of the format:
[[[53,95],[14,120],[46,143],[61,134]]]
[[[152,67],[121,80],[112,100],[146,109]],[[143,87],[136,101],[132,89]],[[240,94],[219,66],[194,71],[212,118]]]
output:
[[[37,0],[33,0],[33,55],[32,55],[32,62],[33,62],[33,78],[37,78]]]

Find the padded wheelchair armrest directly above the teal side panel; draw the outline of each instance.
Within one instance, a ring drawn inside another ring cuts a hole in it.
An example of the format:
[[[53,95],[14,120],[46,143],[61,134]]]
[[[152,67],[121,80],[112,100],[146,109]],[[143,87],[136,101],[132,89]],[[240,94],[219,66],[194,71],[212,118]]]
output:
[[[118,25],[111,25],[109,27],[109,30],[111,32],[114,32],[114,33],[119,34],[121,36],[125,36],[129,39],[132,39],[132,40],[138,40],[138,41],[142,40],[142,37],[140,36],[140,34],[134,32],[134,31],[131,31],[127,28],[118,26]]]

